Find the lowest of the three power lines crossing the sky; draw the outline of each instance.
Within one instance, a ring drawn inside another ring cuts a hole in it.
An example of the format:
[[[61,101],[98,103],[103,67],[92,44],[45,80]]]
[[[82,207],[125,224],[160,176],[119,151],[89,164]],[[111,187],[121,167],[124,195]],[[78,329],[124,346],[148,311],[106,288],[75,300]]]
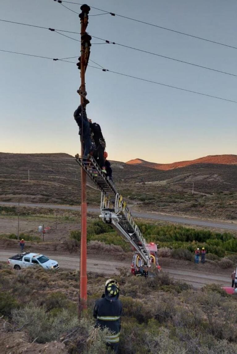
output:
[[[64,60],[64,59],[43,57],[43,56],[39,56],[39,55],[32,55],[32,54],[27,54],[27,53],[13,52],[13,51],[3,50],[3,49],[0,49],[0,51],[1,51],[1,52],[7,52],[7,53],[14,53],[14,54],[26,55],[26,56],[30,56],[30,57],[38,57],[38,58],[50,59],[50,60],[53,60],[53,61],[62,61],[62,62],[67,62],[67,63],[76,64],[75,62],[67,61],[67,60]],[[71,57],[71,58],[73,58],[73,57]],[[96,65],[101,66],[100,64],[97,64],[97,63],[96,63]],[[126,76],[126,77],[132,78],[132,79],[137,79],[137,80],[142,80],[142,81],[150,82],[150,83],[156,84],[156,85],[161,85],[161,86],[165,86],[165,87],[170,87],[170,88],[176,89],[176,90],[181,90],[181,91],[196,93],[197,95],[202,95],[202,96],[207,96],[207,97],[211,97],[211,98],[221,99],[222,101],[228,101],[228,102],[237,103],[237,101],[233,101],[232,99],[227,99],[227,98],[222,98],[222,97],[218,97],[218,96],[208,95],[207,93],[202,93],[202,92],[198,92],[198,91],[192,91],[192,90],[188,90],[188,89],[182,89],[182,87],[177,87],[177,86],[173,86],[173,85],[163,84],[162,82],[157,82],[157,81],[153,81],[153,80],[147,80],[147,79],[139,78],[139,77],[137,77],[137,76],[132,76],[132,75],[128,75],[128,74],[123,74],[123,73],[119,73],[119,72],[112,71],[112,70],[108,70],[108,69],[104,69],[104,68],[101,69],[101,68],[94,67],[94,66],[92,66],[92,65],[88,65],[88,67],[91,67],[91,68],[94,68],[94,69],[99,69],[99,70],[102,70],[103,72],[109,72],[109,73],[113,73],[113,74],[117,74],[117,75],[121,75],[121,76]],[[101,66],[101,67],[102,67],[102,66]]]

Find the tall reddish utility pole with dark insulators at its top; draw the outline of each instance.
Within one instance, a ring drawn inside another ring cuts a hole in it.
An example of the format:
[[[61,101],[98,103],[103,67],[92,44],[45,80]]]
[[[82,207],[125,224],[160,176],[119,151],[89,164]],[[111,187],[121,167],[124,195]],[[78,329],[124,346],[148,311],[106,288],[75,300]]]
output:
[[[81,98],[81,115],[82,115],[82,129],[81,129],[81,158],[83,158],[83,107],[85,107],[86,90],[85,90],[85,71],[90,54],[90,39],[91,37],[86,33],[88,25],[88,13],[90,7],[86,4],[81,6],[81,13],[79,15],[81,22],[81,57],[79,58],[78,68],[81,70],[81,86],[79,94]],[[79,297],[79,315],[83,309],[87,308],[87,274],[86,274],[86,173],[81,167],[81,247],[80,247],[80,297]]]

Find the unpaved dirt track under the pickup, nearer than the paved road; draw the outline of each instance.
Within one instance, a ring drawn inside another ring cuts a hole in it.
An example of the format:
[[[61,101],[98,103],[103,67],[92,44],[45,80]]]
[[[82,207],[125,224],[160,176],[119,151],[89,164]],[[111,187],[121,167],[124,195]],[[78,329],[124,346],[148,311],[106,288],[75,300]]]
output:
[[[7,261],[9,257],[14,255],[16,252],[13,250],[4,250],[0,251],[0,261]],[[69,255],[48,255],[51,259],[55,259],[58,261],[60,268],[63,269],[78,269],[79,270],[79,261],[80,258],[77,256],[69,256]],[[101,258],[96,258],[92,256],[88,256],[87,260],[87,270],[88,272],[94,272],[94,273],[104,273],[105,275],[113,275],[113,274],[118,274],[118,268],[120,267],[126,267],[127,269],[130,269],[130,262],[129,261],[124,261],[124,262],[119,262],[119,261],[106,261],[106,259],[101,259]],[[161,264],[162,265],[162,264]],[[201,265],[202,266],[202,265]],[[180,266],[171,268],[171,267],[163,267],[162,266],[162,271],[167,272],[176,280],[184,280],[188,284],[192,284],[194,287],[202,287],[206,284],[210,283],[216,283],[220,286],[230,286],[230,276],[227,276],[225,274],[219,274],[218,273],[209,273],[207,271],[201,272],[199,271],[194,271],[188,269],[188,266],[185,268],[181,268]]]

